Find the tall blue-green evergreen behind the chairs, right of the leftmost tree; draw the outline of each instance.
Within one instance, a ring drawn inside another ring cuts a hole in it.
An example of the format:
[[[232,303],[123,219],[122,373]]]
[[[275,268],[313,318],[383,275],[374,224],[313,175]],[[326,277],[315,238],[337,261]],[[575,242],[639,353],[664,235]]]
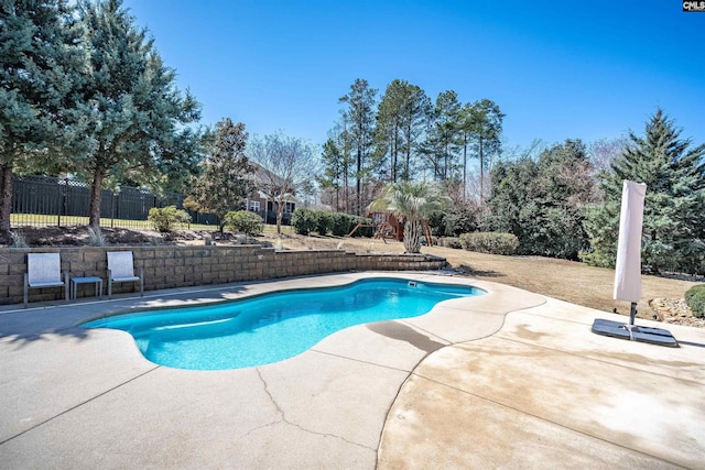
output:
[[[159,186],[163,174],[195,172],[200,161],[200,136],[186,125],[199,119],[199,105],[176,88],[174,70],[121,3],[82,3],[88,70],[78,121],[90,149],[73,171],[91,183],[91,227],[104,186],[126,178]]]

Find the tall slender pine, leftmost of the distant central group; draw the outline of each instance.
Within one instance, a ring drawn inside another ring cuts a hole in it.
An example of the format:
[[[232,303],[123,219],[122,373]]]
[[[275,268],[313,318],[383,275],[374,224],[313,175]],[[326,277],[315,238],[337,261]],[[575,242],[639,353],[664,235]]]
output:
[[[362,209],[362,182],[368,178],[369,156],[373,146],[375,136],[375,97],[377,90],[370,88],[367,80],[357,78],[350,86],[350,91],[339,99],[347,105],[344,118],[349,128],[349,139],[356,157],[356,207],[359,216]]]

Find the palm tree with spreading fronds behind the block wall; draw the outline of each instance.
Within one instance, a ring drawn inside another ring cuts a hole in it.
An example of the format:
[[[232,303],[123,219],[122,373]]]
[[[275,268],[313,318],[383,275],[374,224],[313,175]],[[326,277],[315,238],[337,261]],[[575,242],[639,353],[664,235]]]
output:
[[[399,220],[405,220],[404,250],[406,253],[420,253],[423,220],[433,211],[443,209],[449,200],[435,185],[400,182],[384,187],[370,208],[391,211]]]

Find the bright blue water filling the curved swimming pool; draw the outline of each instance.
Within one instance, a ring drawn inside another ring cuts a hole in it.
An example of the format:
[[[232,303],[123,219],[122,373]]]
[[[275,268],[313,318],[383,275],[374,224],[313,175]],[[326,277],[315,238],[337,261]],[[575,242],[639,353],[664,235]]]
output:
[[[481,293],[471,286],[369,278],[213,306],[131,313],[83,327],[127,331],[142,354],[158,364],[239,369],[291,358],[352,325],[415,317],[438,302]]]

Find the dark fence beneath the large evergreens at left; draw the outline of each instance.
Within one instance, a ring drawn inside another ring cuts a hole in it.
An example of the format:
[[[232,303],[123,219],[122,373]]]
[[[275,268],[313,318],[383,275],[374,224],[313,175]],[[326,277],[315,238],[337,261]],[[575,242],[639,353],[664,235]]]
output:
[[[143,227],[153,207],[176,206],[186,210],[193,223],[218,226],[213,214],[184,208],[184,196],[154,195],[144,188],[122,186],[119,193],[101,190],[100,218],[106,227]],[[88,222],[90,187],[70,178],[15,176],[12,189],[12,227],[76,226]]]

